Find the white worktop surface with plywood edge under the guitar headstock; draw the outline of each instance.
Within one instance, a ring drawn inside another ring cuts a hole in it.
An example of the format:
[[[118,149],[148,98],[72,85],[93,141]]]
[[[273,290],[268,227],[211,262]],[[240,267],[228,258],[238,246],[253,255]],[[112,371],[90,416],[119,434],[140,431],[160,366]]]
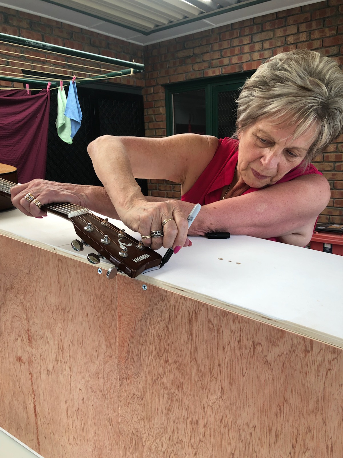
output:
[[[94,251],[74,251],[73,225],[51,213],[37,219],[17,209],[2,212],[0,234],[81,262]],[[343,256],[248,236],[191,240],[192,247],[137,280],[343,348]],[[94,274],[109,266],[101,261]]]

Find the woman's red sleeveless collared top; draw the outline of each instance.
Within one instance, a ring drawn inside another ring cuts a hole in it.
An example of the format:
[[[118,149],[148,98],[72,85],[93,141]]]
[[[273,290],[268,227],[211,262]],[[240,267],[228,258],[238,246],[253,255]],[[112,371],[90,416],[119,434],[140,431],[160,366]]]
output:
[[[183,194],[181,197],[182,201],[206,205],[220,200],[223,186],[230,185],[233,175],[235,174],[238,161],[238,143],[238,140],[229,137],[219,140],[217,150],[212,160],[191,189]],[[305,171],[301,171],[300,165],[297,165],[275,184],[284,183],[298,176],[308,174],[322,175],[322,173],[312,164],[310,164]],[[243,194],[259,191],[261,189],[263,188],[249,188],[247,191],[243,192]],[[268,240],[279,241],[276,237],[272,237]]]

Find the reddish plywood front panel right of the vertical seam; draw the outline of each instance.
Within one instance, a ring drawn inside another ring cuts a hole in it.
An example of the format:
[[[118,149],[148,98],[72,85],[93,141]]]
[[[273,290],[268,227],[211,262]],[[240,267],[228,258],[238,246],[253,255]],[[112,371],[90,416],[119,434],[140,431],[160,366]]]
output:
[[[343,456],[341,349],[118,278],[123,457]]]

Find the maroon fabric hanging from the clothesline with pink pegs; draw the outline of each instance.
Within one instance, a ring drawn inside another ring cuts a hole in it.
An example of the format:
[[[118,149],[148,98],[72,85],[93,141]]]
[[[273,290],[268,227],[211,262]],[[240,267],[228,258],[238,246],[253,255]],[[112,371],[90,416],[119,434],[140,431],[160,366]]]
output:
[[[13,165],[18,182],[44,178],[50,91],[0,91],[0,163]]]

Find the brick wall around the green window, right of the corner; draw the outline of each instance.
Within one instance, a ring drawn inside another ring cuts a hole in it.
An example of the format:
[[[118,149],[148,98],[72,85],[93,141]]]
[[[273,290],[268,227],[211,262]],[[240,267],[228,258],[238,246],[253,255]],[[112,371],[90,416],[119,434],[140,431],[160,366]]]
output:
[[[343,0],[329,0],[259,16],[144,48],[145,133],[166,135],[163,84],[256,69],[291,49],[313,49],[343,65]],[[332,198],[319,221],[343,224],[343,136],[314,158]],[[175,197],[180,188],[154,180],[151,195]]]

